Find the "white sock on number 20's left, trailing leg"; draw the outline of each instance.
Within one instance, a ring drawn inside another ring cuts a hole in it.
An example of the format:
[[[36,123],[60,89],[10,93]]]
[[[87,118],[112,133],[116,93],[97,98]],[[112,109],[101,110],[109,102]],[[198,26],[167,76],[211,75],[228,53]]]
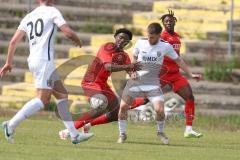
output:
[[[9,121],[9,127],[13,130],[17,125],[22,122],[24,119],[38,112],[44,107],[44,104],[39,98],[34,98],[28,101],[18,112],[17,114]]]

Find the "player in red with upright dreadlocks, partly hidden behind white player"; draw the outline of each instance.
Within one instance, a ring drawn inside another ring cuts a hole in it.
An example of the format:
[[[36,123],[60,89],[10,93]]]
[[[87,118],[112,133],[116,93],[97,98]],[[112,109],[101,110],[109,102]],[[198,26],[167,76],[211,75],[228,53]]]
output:
[[[181,37],[174,31],[177,18],[174,16],[173,11],[169,10],[168,14],[161,17],[161,21],[165,30],[161,33],[161,39],[170,43],[174,50],[180,55]],[[163,66],[167,68],[168,72],[160,77],[161,85],[170,85],[173,92],[177,93],[185,100],[185,117],[186,117],[186,130],[184,137],[201,137],[201,133],[192,130],[192,123],[195,115],[195,103],[192,88],[188,80],[181,75],[179,66],[170,58],[164,57]],[[201,77],[193,77],[199,80]]]

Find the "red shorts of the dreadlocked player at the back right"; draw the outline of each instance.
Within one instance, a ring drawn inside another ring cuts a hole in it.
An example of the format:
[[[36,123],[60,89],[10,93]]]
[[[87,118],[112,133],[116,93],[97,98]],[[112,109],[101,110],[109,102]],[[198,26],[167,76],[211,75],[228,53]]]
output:
[[[189,85],[189,82],[179,72],[175,72],[175,73],[167,73],[161,76],[160,84],[162,87],[164,87],[165,85],[170,85],[172,87],[172,90],[176,92],[180,88]]]

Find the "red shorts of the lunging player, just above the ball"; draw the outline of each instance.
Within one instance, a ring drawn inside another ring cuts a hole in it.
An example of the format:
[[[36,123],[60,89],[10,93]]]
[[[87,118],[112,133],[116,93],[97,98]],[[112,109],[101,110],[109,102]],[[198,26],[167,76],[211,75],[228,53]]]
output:
[[[100,85],[96,83],[82,83],[82,89],[84,91],[84,95],[88,97],[88,100],[95,94],[103,94],[108,99],[108,106],[116,107],[118,104],[117,96],[107,84]]]

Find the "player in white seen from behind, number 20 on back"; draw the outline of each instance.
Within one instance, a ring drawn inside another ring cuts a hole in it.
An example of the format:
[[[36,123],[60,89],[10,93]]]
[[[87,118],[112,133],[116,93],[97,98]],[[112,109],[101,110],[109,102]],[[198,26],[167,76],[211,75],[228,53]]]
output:
[[[60,11],[52,6],[54,0],[38,0],[38,2],[39,6],[22,19],[9,43],[6,63],[0,70],[1,77],[11,71],[16,45],[27,34],[30,48],[28,66],[33,73],[37,97],[27,102],[11,120],[2,123],[5,137],[10,143],[13,143],[13,134],[17,125],[48,104],[53,94],[57,99],[58,113],[65,127],[70,131],[72,143],[77,144],[88,139],[92,134],[78,133],[75,129],[68,110],[67,91],[57,72],[54,72],[56,69],[54,65],[54,37],[57,27],[77,46],[81,47],[81,41],[67,25]]]

